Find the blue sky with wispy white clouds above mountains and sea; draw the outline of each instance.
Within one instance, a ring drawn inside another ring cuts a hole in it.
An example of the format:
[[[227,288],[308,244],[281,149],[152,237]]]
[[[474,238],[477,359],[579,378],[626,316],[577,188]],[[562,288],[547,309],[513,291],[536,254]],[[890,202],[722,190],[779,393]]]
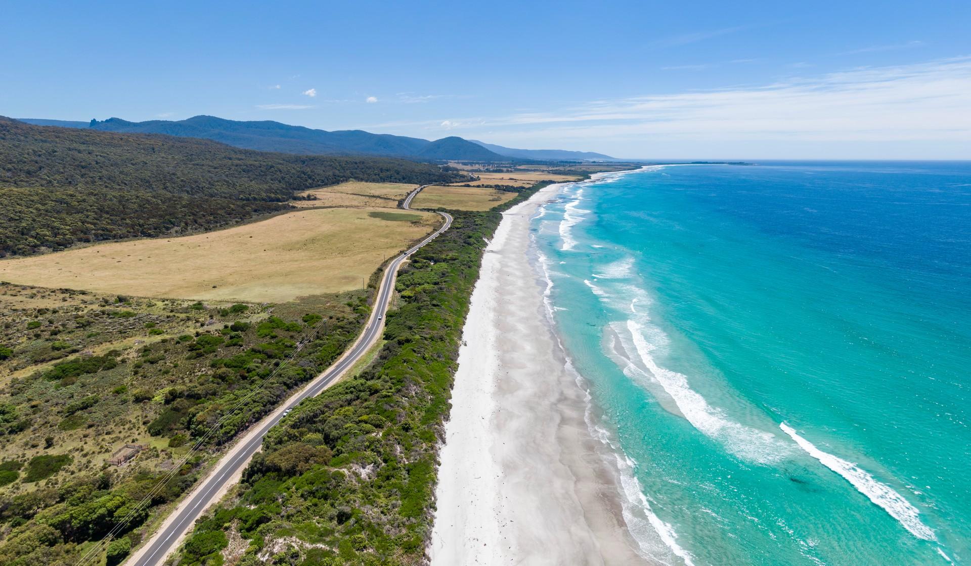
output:
[[[0,115],[971,159],[971,2],[0,0]]]

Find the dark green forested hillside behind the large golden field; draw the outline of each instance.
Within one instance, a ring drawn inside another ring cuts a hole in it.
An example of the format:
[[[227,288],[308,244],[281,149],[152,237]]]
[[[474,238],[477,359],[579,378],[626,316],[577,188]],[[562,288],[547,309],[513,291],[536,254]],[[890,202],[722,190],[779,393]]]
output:
[[[457,173],[407,160],[265,153],[208,140],[34,126],[0,117],[0,257],[83,241],[212,230],[350,179]]]

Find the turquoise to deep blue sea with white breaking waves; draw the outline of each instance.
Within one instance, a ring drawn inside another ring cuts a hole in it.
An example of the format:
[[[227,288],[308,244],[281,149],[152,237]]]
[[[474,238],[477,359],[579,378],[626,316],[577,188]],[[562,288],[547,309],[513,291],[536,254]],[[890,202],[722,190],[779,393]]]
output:
[[[674,166],[533,220],[646,554],[971,563],[971,164]]]

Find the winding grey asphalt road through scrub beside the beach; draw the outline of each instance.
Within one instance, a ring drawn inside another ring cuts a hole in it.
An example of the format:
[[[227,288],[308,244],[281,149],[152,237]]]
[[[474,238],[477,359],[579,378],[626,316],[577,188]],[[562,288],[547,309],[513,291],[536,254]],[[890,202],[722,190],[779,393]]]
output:
[[[408,195],[408,197],[402,202],[401,207],[410,210],[410,205],[412,199],[419,191],[425,188],[427,185],[420,186],[418,189],[413,191]],[[307,397],[312,397],[322,392],[328,385],[330,385],[335,379],[341,376],[345,371],[347,371],[355,362],[361,359],[362,356],[371,348],[372,345],[381,337],[384,330],[384,325],[378,316],[384,317],[387,311],[388,299],[391,297],[391,293],[394,291],[394,282],[397,279],[398,267],[408,259],[410,255],[415,253],[421,246],[425,245],[429,241],[449,230],[452,226],[452,215],[448,212],[439,212],[445,218],[445,224],[441,228],[436,230],[433,234],[425,237],[415,246],[409,248],[400,256],[396,257],[394,260],[388,264],[385,269],[385,276],[381,282],[381,289],[378,292],[378,299],[375,301],[375,308],[371,312],[371,318],[368,320],[367,327],[362,333],[361,337],[354,343],[349,354],[345,355],[343,358],[335,362],[333,365],[328,367],[323,373],[318,375],[314,381],[311,382],[310,387],[302,390],[287,399],[281,408],[288,409],[295,407],[300,401]],[[154,533],[149,540],[149,542],[136,551],[133,554],[131,560],[129,560],[125,566],[157,566],[165,561],[165,558],[170,552],[176,549],[176,545],[179,543],[182,535],[185,531],[192,528],[195,524],[195,520],[202,515],[202,512],[206,510],[212,503],[215,503],[215,498],[222,487],[225,487],[229,481],[234,477],[236,472],[240,471],[243,466],[245,466],[258,450],[263,442],[263,436],[277,423],[280,423],[284,419],[283,411],[277,410],[271,416],[263,419],[256,425],[244,432],[242,435],[243,442],[241,447],[234,447],[231,449],[226,456],[218,462],[216,468],[209,474],[209,476],[203,481],[203,483],[197,487],[189,497],[184,500],[183,503],[175,511],[175,517],[170,517],[166,519],[163,523],[163,527],[158,532]]]

